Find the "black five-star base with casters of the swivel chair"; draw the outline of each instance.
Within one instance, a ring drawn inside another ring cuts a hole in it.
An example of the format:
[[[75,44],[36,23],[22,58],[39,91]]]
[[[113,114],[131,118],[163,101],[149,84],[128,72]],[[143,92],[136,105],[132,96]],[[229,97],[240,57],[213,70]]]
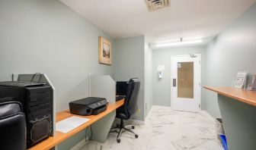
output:
[[[128,129],[127,127],[132,127],[132,129]],[[123,119],[121,119],[120,124],[117,123],[116,127],[111,128],[110,133],[117,133],[117,142],[120,143],[121,142],[120,138],[122,136],[122,133],[124,132],[132,133],[136,139],[139,137],[138,134],[133,132],[133,129],[135,129],[133,125],[124,126]]]

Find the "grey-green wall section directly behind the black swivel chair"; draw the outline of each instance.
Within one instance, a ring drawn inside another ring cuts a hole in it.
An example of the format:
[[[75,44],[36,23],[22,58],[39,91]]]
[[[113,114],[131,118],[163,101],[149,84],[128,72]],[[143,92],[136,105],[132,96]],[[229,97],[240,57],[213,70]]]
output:
[[[144,102],[144,36],[117,39],[115,45],[114,77],[117,81],[126,81],[138,77],[141,81],[138,107],[134,117],[136,120],[145,118]]]

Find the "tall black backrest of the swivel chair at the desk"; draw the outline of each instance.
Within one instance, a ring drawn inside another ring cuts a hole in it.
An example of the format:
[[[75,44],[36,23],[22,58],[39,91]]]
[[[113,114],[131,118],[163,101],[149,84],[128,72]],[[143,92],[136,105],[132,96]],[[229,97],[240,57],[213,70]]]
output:
[[[130,79],[124,100],[123,109],[127,117],[132,117],[138,110],[138,95],[139,95],[140,81],[138,78]]]

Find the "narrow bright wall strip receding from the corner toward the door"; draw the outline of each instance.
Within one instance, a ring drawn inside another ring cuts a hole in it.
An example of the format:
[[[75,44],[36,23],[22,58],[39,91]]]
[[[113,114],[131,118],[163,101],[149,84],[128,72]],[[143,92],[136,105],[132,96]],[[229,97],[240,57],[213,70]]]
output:
[[[152,82],[152,49],[149,43],[145,40],[145,111],[146,116],[152,108],[153,104],[153,82]]]

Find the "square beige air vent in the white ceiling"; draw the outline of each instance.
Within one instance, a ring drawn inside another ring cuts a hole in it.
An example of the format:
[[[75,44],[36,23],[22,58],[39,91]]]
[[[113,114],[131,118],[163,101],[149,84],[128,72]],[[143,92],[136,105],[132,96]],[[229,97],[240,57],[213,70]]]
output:
[[[145,0],[149,11],[155,11],[160,8],[167,8],[170,5],[170,0]]]

